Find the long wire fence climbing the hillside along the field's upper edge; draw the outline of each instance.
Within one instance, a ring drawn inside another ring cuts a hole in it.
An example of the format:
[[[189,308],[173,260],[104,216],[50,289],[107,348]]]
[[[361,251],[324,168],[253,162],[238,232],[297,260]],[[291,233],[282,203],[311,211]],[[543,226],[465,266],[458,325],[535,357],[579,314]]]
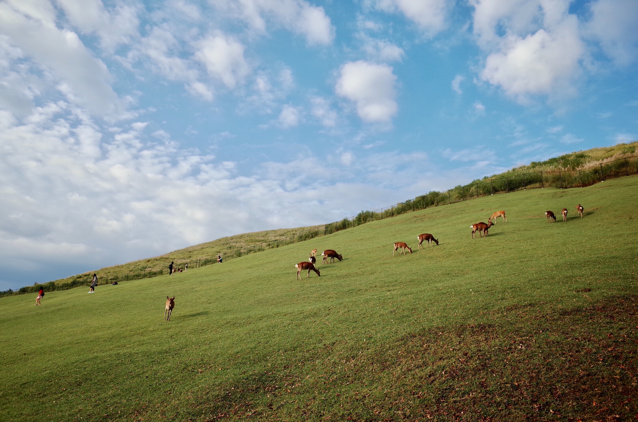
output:
[[[193,261],[181,261],[174,266],[174,269],[176,272],[183,272],[186,268],[207,266],[219,263],[219,261],[223,262],[228,259],[239,258],[256,252],[262,252],[267,249],[276,249],[278,247],[304,242],[304,240],[309,240],[318,236],[330,235],[336,231],[360,226],[366,222],[392,218],[396,215],[405,214],[406,212],[413,212],[425,208],[466,201],[472,198],[479,198],[480,196],[544,187],[558,187],[559,189],[585,187],[602,182],[609,178],[635,174],[638,174],[638,156],[623,157],[606,163],[596,164],[595,166],[590,166],[588,168],[581,168],[579,170],[530,171],[525,173],[512,171],[511,175],[504,177],[475,180],[474,182],[464,186],[459,185],[442,192],[432,191],[430,193],[417,196],[412,200],[390,205],[389,207],[362,211],[357,215],[345,217],[340,221],[316,226],[313,229],[303,231],[295,236],[283,237],[245,248],[234,249],[231,252],[220,253],[211,258],[205,257]],[[220,259],[218,260],[218,258]],[[98,275],[98,286],[111,284],[113,282],[119,283],[122,281],[158,277],[165,273],[168,274],[168,261],[166,271],[161,268],[159,270],[149,269],[145,271],[121,273],[109,275],[107,277],[99,277]],[[69,282],[56,283],[54,281],[50,281],[43,284],[36,284],[34,286],[25,286],[16,291],[11,289],[7,291],[0,291],[0,297],[37,293],[40,287],[47,292],[72,289],[73,287],[78,286],[89,286],[92,279],[93,275],[82,274],[77,275],[75,279]]]

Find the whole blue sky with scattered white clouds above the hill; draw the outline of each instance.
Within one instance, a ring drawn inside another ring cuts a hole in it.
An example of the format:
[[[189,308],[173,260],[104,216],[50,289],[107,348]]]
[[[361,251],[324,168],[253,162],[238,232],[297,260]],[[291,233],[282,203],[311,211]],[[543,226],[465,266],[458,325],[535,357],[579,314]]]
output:
[[[0,1],[0,289],[638,138],[634,0]]]

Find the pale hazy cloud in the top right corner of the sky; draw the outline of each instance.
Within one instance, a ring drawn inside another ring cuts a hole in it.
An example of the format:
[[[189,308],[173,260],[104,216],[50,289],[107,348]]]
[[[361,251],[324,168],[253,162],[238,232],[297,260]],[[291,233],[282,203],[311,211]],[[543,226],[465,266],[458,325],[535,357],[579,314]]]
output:
[[[638,58],[638,2],[598,0],[590,3],[591,20],[586,33],[598,40],[605,54],[627,65]]]

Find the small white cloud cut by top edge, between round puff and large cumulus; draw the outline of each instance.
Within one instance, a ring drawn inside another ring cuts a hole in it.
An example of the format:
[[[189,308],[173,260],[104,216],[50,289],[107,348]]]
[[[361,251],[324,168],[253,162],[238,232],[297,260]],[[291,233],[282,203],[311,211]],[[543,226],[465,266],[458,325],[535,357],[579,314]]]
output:
[[[384,11],[401,11],[424,33],[432,35],[445,29],[447,3],[445,0],[378,0],[377,7]]]

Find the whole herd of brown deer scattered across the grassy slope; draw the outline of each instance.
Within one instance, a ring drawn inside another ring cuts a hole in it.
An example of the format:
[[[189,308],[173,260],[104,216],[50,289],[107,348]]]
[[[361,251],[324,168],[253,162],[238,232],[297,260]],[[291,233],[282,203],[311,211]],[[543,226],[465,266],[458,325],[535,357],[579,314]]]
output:
[[[578,204],[575,208],[576,208],[577,214],[580,215],[582,218],[582,212],[584,210],[584,208],[582,208],[582,205]],[[563,208],[563,210],[561,211],[561,214],[563,215],[563,221],[567,221],[567,208]],[[489,228],[491,228],[492,226],[496,224],[496,219],[498,219],[498,217],[502,217],[503,222],[507,222],[507,217],[505,217],[505,211],[501,210],[501,211],[494,212],[494,214],[492,214],[492,216],[489,217],[489,219],[487,219],[487,224],[484,222],[477,222],[476,224],[472,224],[470,226],[472,230],[471,237],[476,238],[477,231],[479,232],[479,237],[480,236],[486,237],[487,235],[489,235],[488,233]],[[554,213],[551,211],[545,211],[545,217],[547,217],[548,222],[556,221],[556,215],[554,215]],[[435,239],[434,236],[431,235],[430,233],[423,233],[422,235],[417,236],[417,240],[419,241],[419,249],[421,248],[427,249],[427,247],[429,246],[434,247],[434,244],[438,246],[438,242],[439,242],[438,239]],[[426,242],[425,247],[422,245],[423,242]],[[401,249],[401,252],[399,252],[399,255],[400,254],[406,255],[405,253],[406,249],[410,252],[410,254],[412,254],[412,248],[410,248],[408,244],[406,244],[405,242],[396,242],[394,244],[394,250],[392,251],[392,256],[394,256],[394,252],[396,252],[398,249]],[[313,249],[310,252],[310,257],[308,258],[308,261],[302,261],[298,264],[295,264],[295,268],[297,268],[297,280],[302,278],[300,274],[304,270],[308,270],[308,275],[306,275],[306,279],[310,277],[311,271],[316,272],[317,276],[321,277],[321,273],[315,267],[316,255],[317,255],[317,250]],[[339,261],[343,259],[343,256],[341,256],[341,254],[338,254],[333,249],[326,249],[325,251],[321,252],[321,256],[323,257],[322,265],[334,263],[335,258],[339,259]],[[167,301],[166,301],[166,309],[164,312],[164,319],[165,321],[170,321],[170,314],[173,312],[173,308],[175,307],[175,296],[173,296],[172,298],[169,298],[168,296],[166,296],[166,298],[167,298]]]

